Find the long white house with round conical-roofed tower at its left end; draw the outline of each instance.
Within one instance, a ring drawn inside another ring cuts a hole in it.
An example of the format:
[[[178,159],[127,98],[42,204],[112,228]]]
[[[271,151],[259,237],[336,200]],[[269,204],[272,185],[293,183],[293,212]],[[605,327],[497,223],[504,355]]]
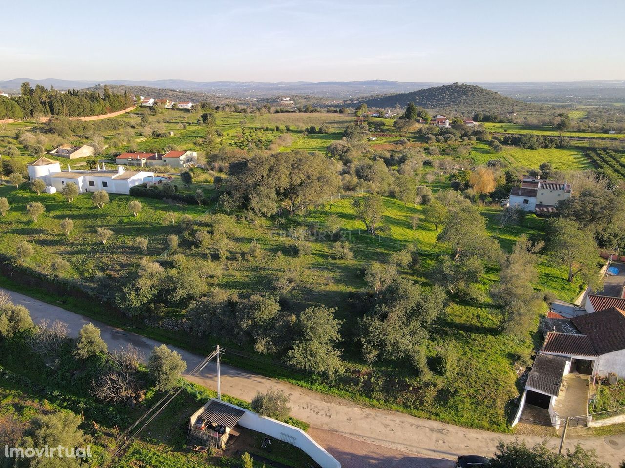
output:
[[[106,170],[98,164],[97,170],[61,171],[58,162],[39,158],[28,165],[31,180],[41,178],[57,191],[63,190],[68,183],[75,183],[80,193],[105,190],[109,193],[130,193],[131,187],[145,182],[154,182],[154,172],[124,170],[118,166],[115,170]]]

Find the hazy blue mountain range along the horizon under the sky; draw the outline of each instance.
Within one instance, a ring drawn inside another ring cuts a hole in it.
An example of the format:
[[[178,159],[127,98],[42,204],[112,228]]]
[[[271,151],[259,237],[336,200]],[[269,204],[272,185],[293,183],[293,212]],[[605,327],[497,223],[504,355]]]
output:
[[[314,96],[324,100],[354,100],[357,97],[379,94],[401,94],[451,83],[399,82],[387,80],[326,81],[326,82],[242,82],[242,81],[190,81],[190,80],[60,80],[47,78],[34,80],[17,78],[0,81],[0,90],[19,92],[22,82],[41,84],[56,89],[84,89],[96,85],[124,85],[151,87],[176,91],[192,91],[233,99],[267,99],[276,96]],[[470,83],[499,92],[507,97],[526,102],[625,102],[625,80],[595,80],[576,82],[518,82]]]

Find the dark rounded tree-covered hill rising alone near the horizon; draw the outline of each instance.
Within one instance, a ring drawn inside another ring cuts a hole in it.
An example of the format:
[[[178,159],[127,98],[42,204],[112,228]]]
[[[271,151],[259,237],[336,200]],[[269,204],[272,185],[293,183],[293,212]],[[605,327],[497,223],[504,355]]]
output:
[[[511,99],[490,89],[471,84],[450,84],[419,89],[401,94],[389,94],[362,99],[367,107],[406,107],[409,102],[426,109],[453,110],[455,112],[511,112],[512,110],[531,109],[532,105]]]

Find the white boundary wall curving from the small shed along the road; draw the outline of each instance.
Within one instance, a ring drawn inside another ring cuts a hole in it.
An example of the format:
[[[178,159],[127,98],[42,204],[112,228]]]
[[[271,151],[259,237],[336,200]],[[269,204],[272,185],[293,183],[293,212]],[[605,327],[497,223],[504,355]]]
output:
[[[212,400],[244,411],[245,414],[239,420],[239,426],[247,427],[247,429],[252,429],[252,431],[262,432],[262,434],[267,434],[267,436],[274,437],[274,439],[296,446],[306,452],[307,456],[311,457],[322,468],[341,468],[341,463],[336,458],[326,452],[326,449],[317,444],[311,436],[299,429],[299,427],[291,426],[286,424],[286,422],[276,421],[271,419],[271,417],[259,416],[255,412],[222,400],[214,398]]]

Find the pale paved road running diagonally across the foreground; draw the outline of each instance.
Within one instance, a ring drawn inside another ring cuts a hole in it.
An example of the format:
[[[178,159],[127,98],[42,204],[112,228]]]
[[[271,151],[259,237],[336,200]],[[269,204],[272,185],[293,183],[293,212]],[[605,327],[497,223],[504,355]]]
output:
[[[58,306],[34,300],[7,291],[16,304],[31,311],[34,321],[59,319],[68,323],[73,336],[86,323],[93,322],[102,331],[103,339],[114,350],[128,343],[149,353],[158,342],[128,333],[104,323],[64,310]],[[203,356],[176,349],[194,368]],[[216,388],[215,364],[209,364],[192,381]],[[258,391],[281,389],[291,398],[291,414],[311,425],[310,434],[342,462],[351,467],[449,467],[449,462],[459,454],[492,454],[501,439],[514,436],[477,431],[438,421],[429,421],[398,412],[362,406],[349,400],[319,394],[289,383],[258,376],[249,371],[222,365],[221,391],[250,401]],[[540,437],[522,436],[528,444],[540,442]],[[596,449],[602,461],[616,467],[625,459],[625,435],[592,439],[567,439],[567,447],[580,442],[584,448]],[[559,441],[551,439],[556,446]]]

